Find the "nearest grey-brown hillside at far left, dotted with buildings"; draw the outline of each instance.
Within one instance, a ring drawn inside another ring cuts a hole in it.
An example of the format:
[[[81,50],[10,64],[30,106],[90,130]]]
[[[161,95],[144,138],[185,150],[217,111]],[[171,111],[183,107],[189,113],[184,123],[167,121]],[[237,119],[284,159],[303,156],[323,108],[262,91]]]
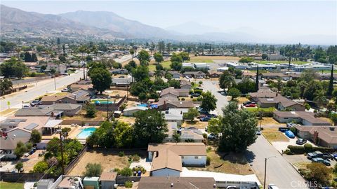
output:
[[[33,35],[97,35],[107,38],[121,38],[126,35],[108,29],[99,29],[58,15],[26,12],[18,8],[1,5],[0,23],[2,34],[23,32]]]

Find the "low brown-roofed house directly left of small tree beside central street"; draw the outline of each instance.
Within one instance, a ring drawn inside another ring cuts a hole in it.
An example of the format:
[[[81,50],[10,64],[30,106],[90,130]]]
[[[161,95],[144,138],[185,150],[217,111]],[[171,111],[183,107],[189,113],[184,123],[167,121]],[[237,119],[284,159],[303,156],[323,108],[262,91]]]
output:
[[[161,97],[158,102],[159,110],[167,109],[190,109],[194,104],[191,101],[179,101],[177,98]]]

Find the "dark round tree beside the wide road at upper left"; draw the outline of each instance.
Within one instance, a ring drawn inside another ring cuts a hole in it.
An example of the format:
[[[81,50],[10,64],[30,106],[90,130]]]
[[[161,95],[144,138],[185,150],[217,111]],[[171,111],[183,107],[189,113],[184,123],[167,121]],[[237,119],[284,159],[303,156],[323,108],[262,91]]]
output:
[[[100,94],[110,88],[112,82],[109,71],[103,68],[95,68],[90,70],[90,78],[93,83],[93,89],[98,90]]]

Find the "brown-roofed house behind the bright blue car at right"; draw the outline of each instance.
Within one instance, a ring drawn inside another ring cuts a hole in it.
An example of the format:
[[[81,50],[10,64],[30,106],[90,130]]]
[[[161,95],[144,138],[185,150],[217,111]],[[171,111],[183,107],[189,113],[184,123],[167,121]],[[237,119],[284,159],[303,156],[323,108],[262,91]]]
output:
[[[279,123],[302,123],[303,125],[325,125],[329,126],[331,123],[326,120],[315,118],[315,113],[307,111],[274,111],[273,118]]]

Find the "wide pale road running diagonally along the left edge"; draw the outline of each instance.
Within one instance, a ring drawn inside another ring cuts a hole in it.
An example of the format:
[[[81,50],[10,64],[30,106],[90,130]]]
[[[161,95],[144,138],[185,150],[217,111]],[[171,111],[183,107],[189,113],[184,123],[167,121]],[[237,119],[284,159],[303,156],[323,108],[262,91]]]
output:
[[[83,71],[72,73],[70,76],[60,76],[56,78],[56,89],[74,83],[75,81],[79,80],[81,76],[83,77]],[[5,96],[5,99],[1,99],[0,111],[8,109],[7,106],[8,101],[11,102],[10,105],[11,108],[20,108],[20,106],[22,106],[22,101],[26,102],[29,100],[33,100],[36,97],[39,97],[53,90],[55,90],[54,79],[41,80],[35,83],[34,87],[30,87],[27,90],[22,90],[15,94],[10,94],[8,96]]]

